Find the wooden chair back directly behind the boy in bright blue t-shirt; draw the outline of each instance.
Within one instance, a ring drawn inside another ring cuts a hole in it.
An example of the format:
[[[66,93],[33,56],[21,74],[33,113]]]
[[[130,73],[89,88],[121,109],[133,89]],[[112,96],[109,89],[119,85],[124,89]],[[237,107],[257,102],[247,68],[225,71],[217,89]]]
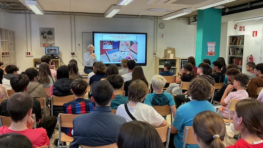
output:
[[[197,144],[195,142],[195,139],[193,136],[193,127],[192,126],[185,126],[184,127],[183,148],[185,148],[186,144]]]

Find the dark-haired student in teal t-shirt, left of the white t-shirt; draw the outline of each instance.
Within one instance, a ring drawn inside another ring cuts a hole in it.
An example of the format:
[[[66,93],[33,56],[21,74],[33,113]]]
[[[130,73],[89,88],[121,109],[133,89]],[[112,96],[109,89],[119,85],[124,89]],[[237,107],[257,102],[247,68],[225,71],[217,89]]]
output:
[[[115,98],[111,100],[111,109],[117,109],[119,105],[128,101],[128,97],[124,97],[120,94],[120,89],[123,86],[123,78],[120,75],[113,74],[106,78],[113,87],[113,93]]]

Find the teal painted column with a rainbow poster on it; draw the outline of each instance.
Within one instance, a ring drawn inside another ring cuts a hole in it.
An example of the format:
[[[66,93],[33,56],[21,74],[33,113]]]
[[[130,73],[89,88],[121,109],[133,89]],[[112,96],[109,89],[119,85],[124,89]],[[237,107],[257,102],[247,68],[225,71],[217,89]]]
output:
[[[211,65],[219,57],[222,10],[208,8],[197,11],[195,62],[210,59]],[[215,56],[207,56],[207,42],[215,42]]]

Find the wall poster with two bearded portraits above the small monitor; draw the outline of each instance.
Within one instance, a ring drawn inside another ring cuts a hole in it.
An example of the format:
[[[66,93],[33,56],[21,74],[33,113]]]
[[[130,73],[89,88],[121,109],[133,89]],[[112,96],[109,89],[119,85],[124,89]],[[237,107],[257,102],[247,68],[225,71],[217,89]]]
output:
[[[40,47],[55,46],[55,29],[39,28]]]

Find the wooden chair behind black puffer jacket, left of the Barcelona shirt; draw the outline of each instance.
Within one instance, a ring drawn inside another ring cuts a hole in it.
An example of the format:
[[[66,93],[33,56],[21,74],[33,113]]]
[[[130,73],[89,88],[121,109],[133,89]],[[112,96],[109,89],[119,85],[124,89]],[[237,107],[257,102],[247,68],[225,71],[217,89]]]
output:
[[[58,96],[51,96],[50,99],[50,106],[51,106],[51,116],[53,116],[53,105],[57,106],[63,106],[64,103],[67,103],[69,101],[74,100],[74,95],[69,95],[69,96],[63,96],[63,97],[58,97]]]

